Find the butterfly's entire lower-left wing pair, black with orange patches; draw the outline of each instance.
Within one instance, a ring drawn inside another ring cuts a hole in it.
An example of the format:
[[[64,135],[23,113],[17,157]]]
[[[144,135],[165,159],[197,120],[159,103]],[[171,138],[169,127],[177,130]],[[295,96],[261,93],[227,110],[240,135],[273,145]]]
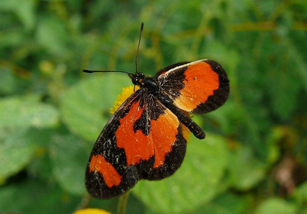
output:
[[[100,133],[87,164],[86,188],[94,197],[110,198],[142,178],[168,177],[185,149],[178,118],[152,94],[137,90]]]

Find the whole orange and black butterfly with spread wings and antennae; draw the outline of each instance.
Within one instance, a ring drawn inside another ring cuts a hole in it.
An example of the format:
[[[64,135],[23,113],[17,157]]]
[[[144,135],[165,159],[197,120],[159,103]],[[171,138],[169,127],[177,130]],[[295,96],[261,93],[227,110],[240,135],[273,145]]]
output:
[[[141,33],[142,28],[143,23]],[[153,77],[137,69],[128,75],[140,89],[107,122],[86,167],[85,186],[96,198],[121,195],[141,179],[160,180],[172,175],[180,167],[187,146],[181,123],[198,139],[205,138],[203,130],[182,111],[211,112],[223,105],[229,94],[226,72],[210,59],[176,63]]]

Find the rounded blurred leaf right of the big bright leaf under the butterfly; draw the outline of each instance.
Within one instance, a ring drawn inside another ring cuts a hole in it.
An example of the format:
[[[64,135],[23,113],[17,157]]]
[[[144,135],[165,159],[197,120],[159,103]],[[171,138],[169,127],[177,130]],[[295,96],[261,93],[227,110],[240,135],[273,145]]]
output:
[[[255,158],[248,147],[239,147],[228,158],[229,180],[238,190],[248,190],[266,174],[266,164]]]

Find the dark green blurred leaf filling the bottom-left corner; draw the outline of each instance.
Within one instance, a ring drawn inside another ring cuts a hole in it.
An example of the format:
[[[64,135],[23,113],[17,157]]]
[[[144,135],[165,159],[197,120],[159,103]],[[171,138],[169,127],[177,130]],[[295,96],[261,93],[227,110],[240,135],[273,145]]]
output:
[[[0,188],[1,213],[72,213],[79,201],[54,183],[40,180],[28,179]]]

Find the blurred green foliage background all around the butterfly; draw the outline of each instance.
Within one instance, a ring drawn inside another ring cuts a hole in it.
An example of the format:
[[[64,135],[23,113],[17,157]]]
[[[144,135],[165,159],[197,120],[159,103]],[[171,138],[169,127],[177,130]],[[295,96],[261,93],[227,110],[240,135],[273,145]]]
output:
[[[170,178],[141,181],[128,213],[307,213],[307,1],[0,1],[0,212],[70,213],[122,74],[214,59],[220,109],[193,119]],[[116,212],[118,198],[89,207]],[[86,203],[85,203],[86,204]]]

